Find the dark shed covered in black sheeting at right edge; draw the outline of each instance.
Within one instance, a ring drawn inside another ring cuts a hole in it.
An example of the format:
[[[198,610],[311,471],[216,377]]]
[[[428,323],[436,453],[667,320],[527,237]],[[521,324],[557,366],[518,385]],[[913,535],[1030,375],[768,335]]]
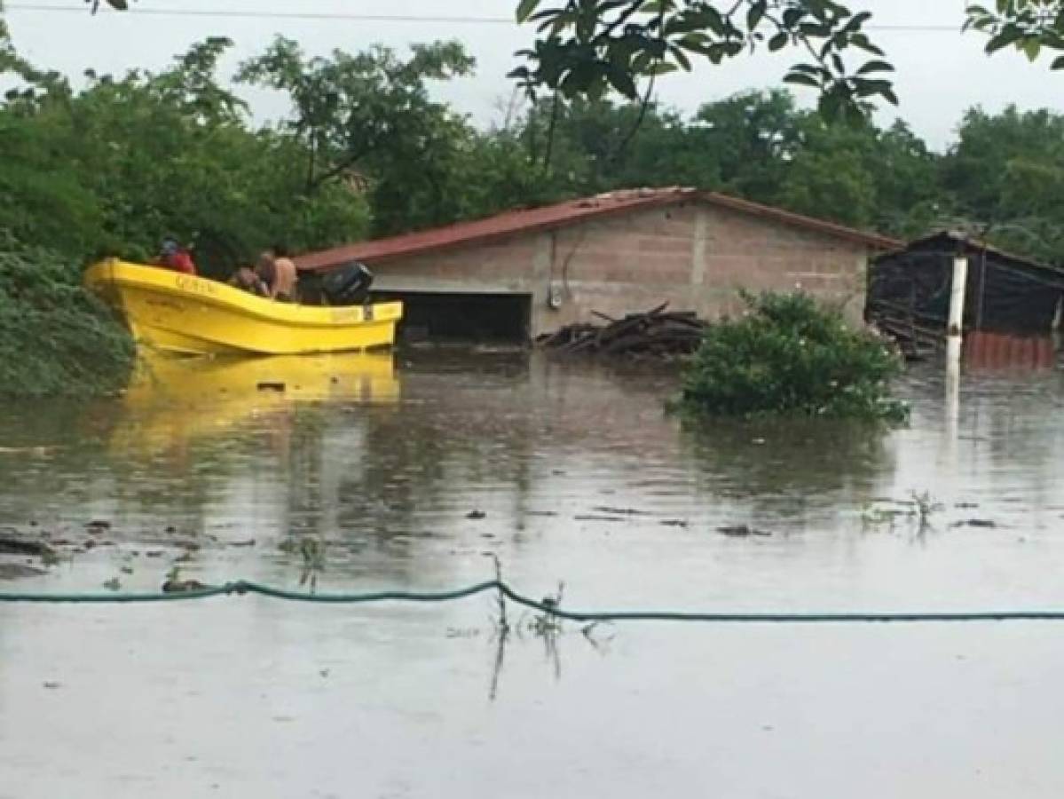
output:
[[[1064,269],[944,231],[876,260],[866,316],[901,337],[941,337],[949,316],[953,261],[968,259],[964,329],[1048,335],[1060,326]]]

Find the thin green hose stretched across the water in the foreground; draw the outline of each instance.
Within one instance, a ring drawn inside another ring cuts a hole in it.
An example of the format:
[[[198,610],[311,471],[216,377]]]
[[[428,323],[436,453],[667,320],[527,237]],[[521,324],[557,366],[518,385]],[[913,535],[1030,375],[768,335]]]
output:
[[[516,604],[573,621],[706,621],[751,625],[852,625],[915,623],[957,621],[1064,621],[1064,611],[977,611],[955,613],[688,613],[684,611],[567,611],[551,601],[542,602],[523,596],[504,582],[491,580],[465,588],[445,592],[384,590],[352,594],[306,594],[238,580],[225,585],[196,587],[190,590],[159,594],[31,594],[0,593],[0,603],[93,603],[134,604],[180,602],[212,597],[256,594],[271,599],[322,604],[368,604],[375,602],[450,602],[477,594],[496,592]]]

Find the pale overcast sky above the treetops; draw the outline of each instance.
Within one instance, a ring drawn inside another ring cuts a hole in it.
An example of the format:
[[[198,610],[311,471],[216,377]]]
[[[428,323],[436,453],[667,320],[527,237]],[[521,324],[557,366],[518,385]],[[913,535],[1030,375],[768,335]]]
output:
[[[209,35],[236,43],[227,67],[260,52],[278,33],[295,38],[312,53],[333,48],[354,51],[373,43],[402,48],[409,43],[458,38],[477,57],[477,77],[438,89],[438,96],[480,124],[499,120],[512,91],[505,79],[513,53],[531,40],[531,28],[505,21],[516,0],[138,0],[128,14],[89,17],[82,0],[5,0],[7,21],[19,51],[39,66],[80,76],[85,68],[121,72],[159,68],[189,44]],[[875,12],[875,38],[897,66],[900,109],[883,112],[882,121],[907,119],[932,147],[948,146],[961,114],[972,105],[996,111],[1013,102],[1021,109],[1062,111],[1064,72],[1049,71],[1049,60],[1034,65],[1008,52],[987,59],[978,35],[960,34],[964,0],[851,0],[851,7]],[[204,16],[163,12],[202,11]],[[218,12],[247,16],[218,16]],[[289,19],[270,13],[307,15],[432,17],[428,20]],[[502,21],[444,21],[439,17]],[[902,29],[899,29],[902,28]],[[791,54],[791,60],[794,54]],[[755,55],[659,82],[659,99],[684,111],[748,88],[780,85],[787,55]],[[800,96],[812,96],[800,89]],[[256,117],[284,112],[278,98],[250,96]]]

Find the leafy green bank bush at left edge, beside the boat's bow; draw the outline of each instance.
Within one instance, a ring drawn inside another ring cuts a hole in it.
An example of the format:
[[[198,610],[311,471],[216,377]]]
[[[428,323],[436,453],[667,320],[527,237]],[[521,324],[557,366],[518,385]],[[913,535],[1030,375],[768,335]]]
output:
[[[0,396],[100,396],[120,388],[133,340],[82,288],[81,268],[0,238]]]

